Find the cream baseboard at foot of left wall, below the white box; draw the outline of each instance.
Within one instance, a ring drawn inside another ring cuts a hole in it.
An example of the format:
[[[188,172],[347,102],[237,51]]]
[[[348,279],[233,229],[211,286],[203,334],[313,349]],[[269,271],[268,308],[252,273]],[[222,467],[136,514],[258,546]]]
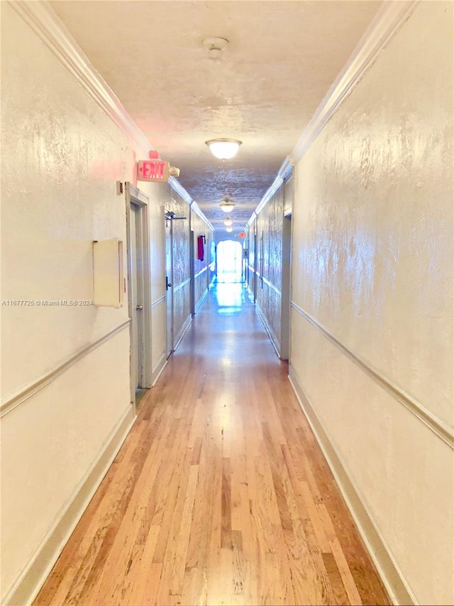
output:
[[[28,606],[38,595],[134,422],[135,414],[131,406],[111,432],[94,465],[74,491],[67,507],[45,536],[25,571],[4,598],[2,603],[5,606]]]

